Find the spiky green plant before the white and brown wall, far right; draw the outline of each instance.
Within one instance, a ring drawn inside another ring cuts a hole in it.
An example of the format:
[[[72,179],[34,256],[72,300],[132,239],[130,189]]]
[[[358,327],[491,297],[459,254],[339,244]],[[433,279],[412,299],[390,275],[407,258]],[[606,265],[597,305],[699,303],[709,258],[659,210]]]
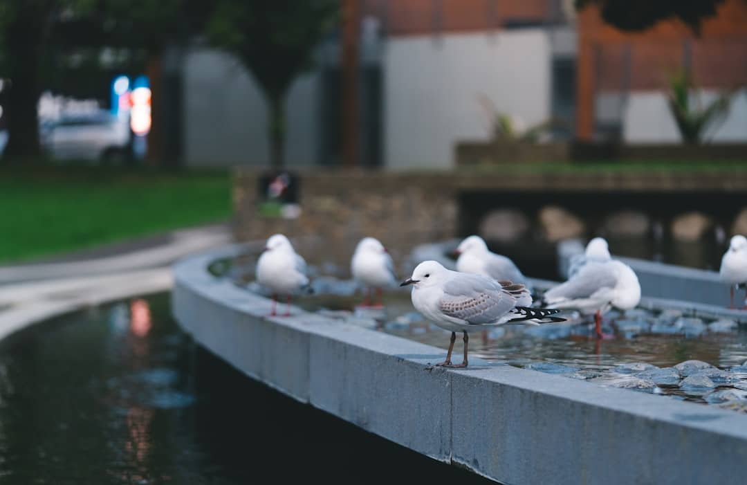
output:
[[[686,71],[677,72],[669,79],[669,110],[682,140],[689,144],[702,143],[706,132],[724,122],[729,112],[731,99],[737,90],[721,93],[705,107],[694,101],[692,78]]]

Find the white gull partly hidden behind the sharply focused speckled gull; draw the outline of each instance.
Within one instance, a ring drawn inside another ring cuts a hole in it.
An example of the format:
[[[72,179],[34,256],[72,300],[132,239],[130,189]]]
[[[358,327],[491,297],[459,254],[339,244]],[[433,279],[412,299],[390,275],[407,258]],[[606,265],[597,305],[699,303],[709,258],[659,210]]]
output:
[[[478,235],[466,238],[456,247],[454,253],[459,255],[456,259],[456,271],[482,274],[497,281],[520,283],[530,292],[532,291],[527,278],[521,274],[514,262],[506,256],[492,253],[485,244],[485,240]]]

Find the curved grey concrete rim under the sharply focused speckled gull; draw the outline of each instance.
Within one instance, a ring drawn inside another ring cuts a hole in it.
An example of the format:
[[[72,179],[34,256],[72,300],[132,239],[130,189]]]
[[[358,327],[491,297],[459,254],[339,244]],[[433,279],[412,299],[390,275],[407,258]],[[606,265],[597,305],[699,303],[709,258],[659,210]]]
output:
[[[292,398],[506,484],[728,483],[747,474],[747,416],[490,365],[427,370],[444,350],[294,309],[206,270],[174,268],[173,313],[196,342]],[[445,335],[445,334],[444,334]]]

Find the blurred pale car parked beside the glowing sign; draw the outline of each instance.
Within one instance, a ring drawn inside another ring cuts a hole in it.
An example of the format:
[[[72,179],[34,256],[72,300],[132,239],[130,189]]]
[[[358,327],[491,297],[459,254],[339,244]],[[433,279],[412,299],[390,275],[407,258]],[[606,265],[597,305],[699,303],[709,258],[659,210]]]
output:
[[[130,158],[130,127],[107,111],[66,115],[40,126],[40,143],[52,158],[123,163]]]

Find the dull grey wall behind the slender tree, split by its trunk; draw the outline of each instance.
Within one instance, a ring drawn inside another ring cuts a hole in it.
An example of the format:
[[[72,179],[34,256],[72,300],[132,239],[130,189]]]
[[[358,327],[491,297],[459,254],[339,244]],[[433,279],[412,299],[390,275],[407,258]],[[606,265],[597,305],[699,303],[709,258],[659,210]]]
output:
[[[189,167],[267,166],[267,108],[239,61],[214,49],[193,49],[184,64],[184,157]],[[288,167],[316,161],[319,75],[299,78],[286,106]]]

